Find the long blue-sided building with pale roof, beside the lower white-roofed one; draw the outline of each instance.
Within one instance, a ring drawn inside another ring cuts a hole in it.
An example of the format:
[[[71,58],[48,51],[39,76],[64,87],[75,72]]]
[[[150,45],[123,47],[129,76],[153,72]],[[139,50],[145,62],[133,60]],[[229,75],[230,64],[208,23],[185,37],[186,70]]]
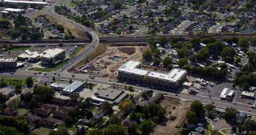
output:
[[[81,90],[82,88],[85,88],[85,84],[83,82],[73,82],[69,87],[64,88],[62,90],[63,95],[71,95],[72,93],[75,93],[79,90]]]

